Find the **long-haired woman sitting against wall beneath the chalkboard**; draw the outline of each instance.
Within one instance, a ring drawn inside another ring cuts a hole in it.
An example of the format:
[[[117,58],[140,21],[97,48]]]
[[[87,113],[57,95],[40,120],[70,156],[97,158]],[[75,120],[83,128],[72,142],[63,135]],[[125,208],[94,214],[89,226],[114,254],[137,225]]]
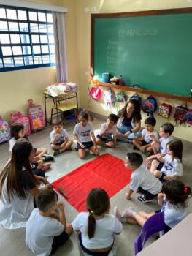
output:
[[[124,142],[139,137],[141,129],[141,108],[137,99],[130,99],[118,113],[118,139]]]

